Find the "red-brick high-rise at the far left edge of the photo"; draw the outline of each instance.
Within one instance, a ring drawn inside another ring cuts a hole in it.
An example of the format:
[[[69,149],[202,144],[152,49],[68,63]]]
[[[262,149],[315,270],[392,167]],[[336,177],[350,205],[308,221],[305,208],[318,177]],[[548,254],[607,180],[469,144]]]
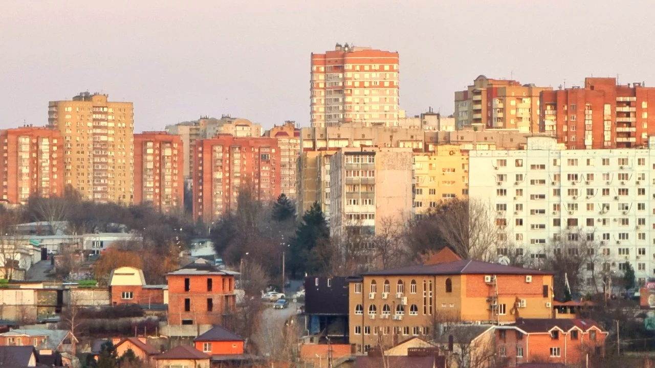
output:
[[[57,130],[22,126],[0,130],[2,201],[24,204],[29,196],[64,193],[64,144]]]

